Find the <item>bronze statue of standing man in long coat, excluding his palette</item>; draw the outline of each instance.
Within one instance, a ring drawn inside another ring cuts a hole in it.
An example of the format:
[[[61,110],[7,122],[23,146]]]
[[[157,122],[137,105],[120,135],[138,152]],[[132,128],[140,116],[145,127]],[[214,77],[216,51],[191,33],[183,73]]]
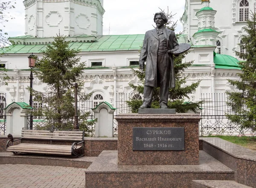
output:
[[[160,107],[168,108],[169,88],[175,88],[173,55],[168,51],[179,44],[175,32],[164,26],[167,17],[163,12],[154,15],[154,22],[157,27],[146,32],[140,53],[140,68],[144,67],[145,61],[147,63],[144,100],[140,108],[151,107],[154,87],[160,87]]]

